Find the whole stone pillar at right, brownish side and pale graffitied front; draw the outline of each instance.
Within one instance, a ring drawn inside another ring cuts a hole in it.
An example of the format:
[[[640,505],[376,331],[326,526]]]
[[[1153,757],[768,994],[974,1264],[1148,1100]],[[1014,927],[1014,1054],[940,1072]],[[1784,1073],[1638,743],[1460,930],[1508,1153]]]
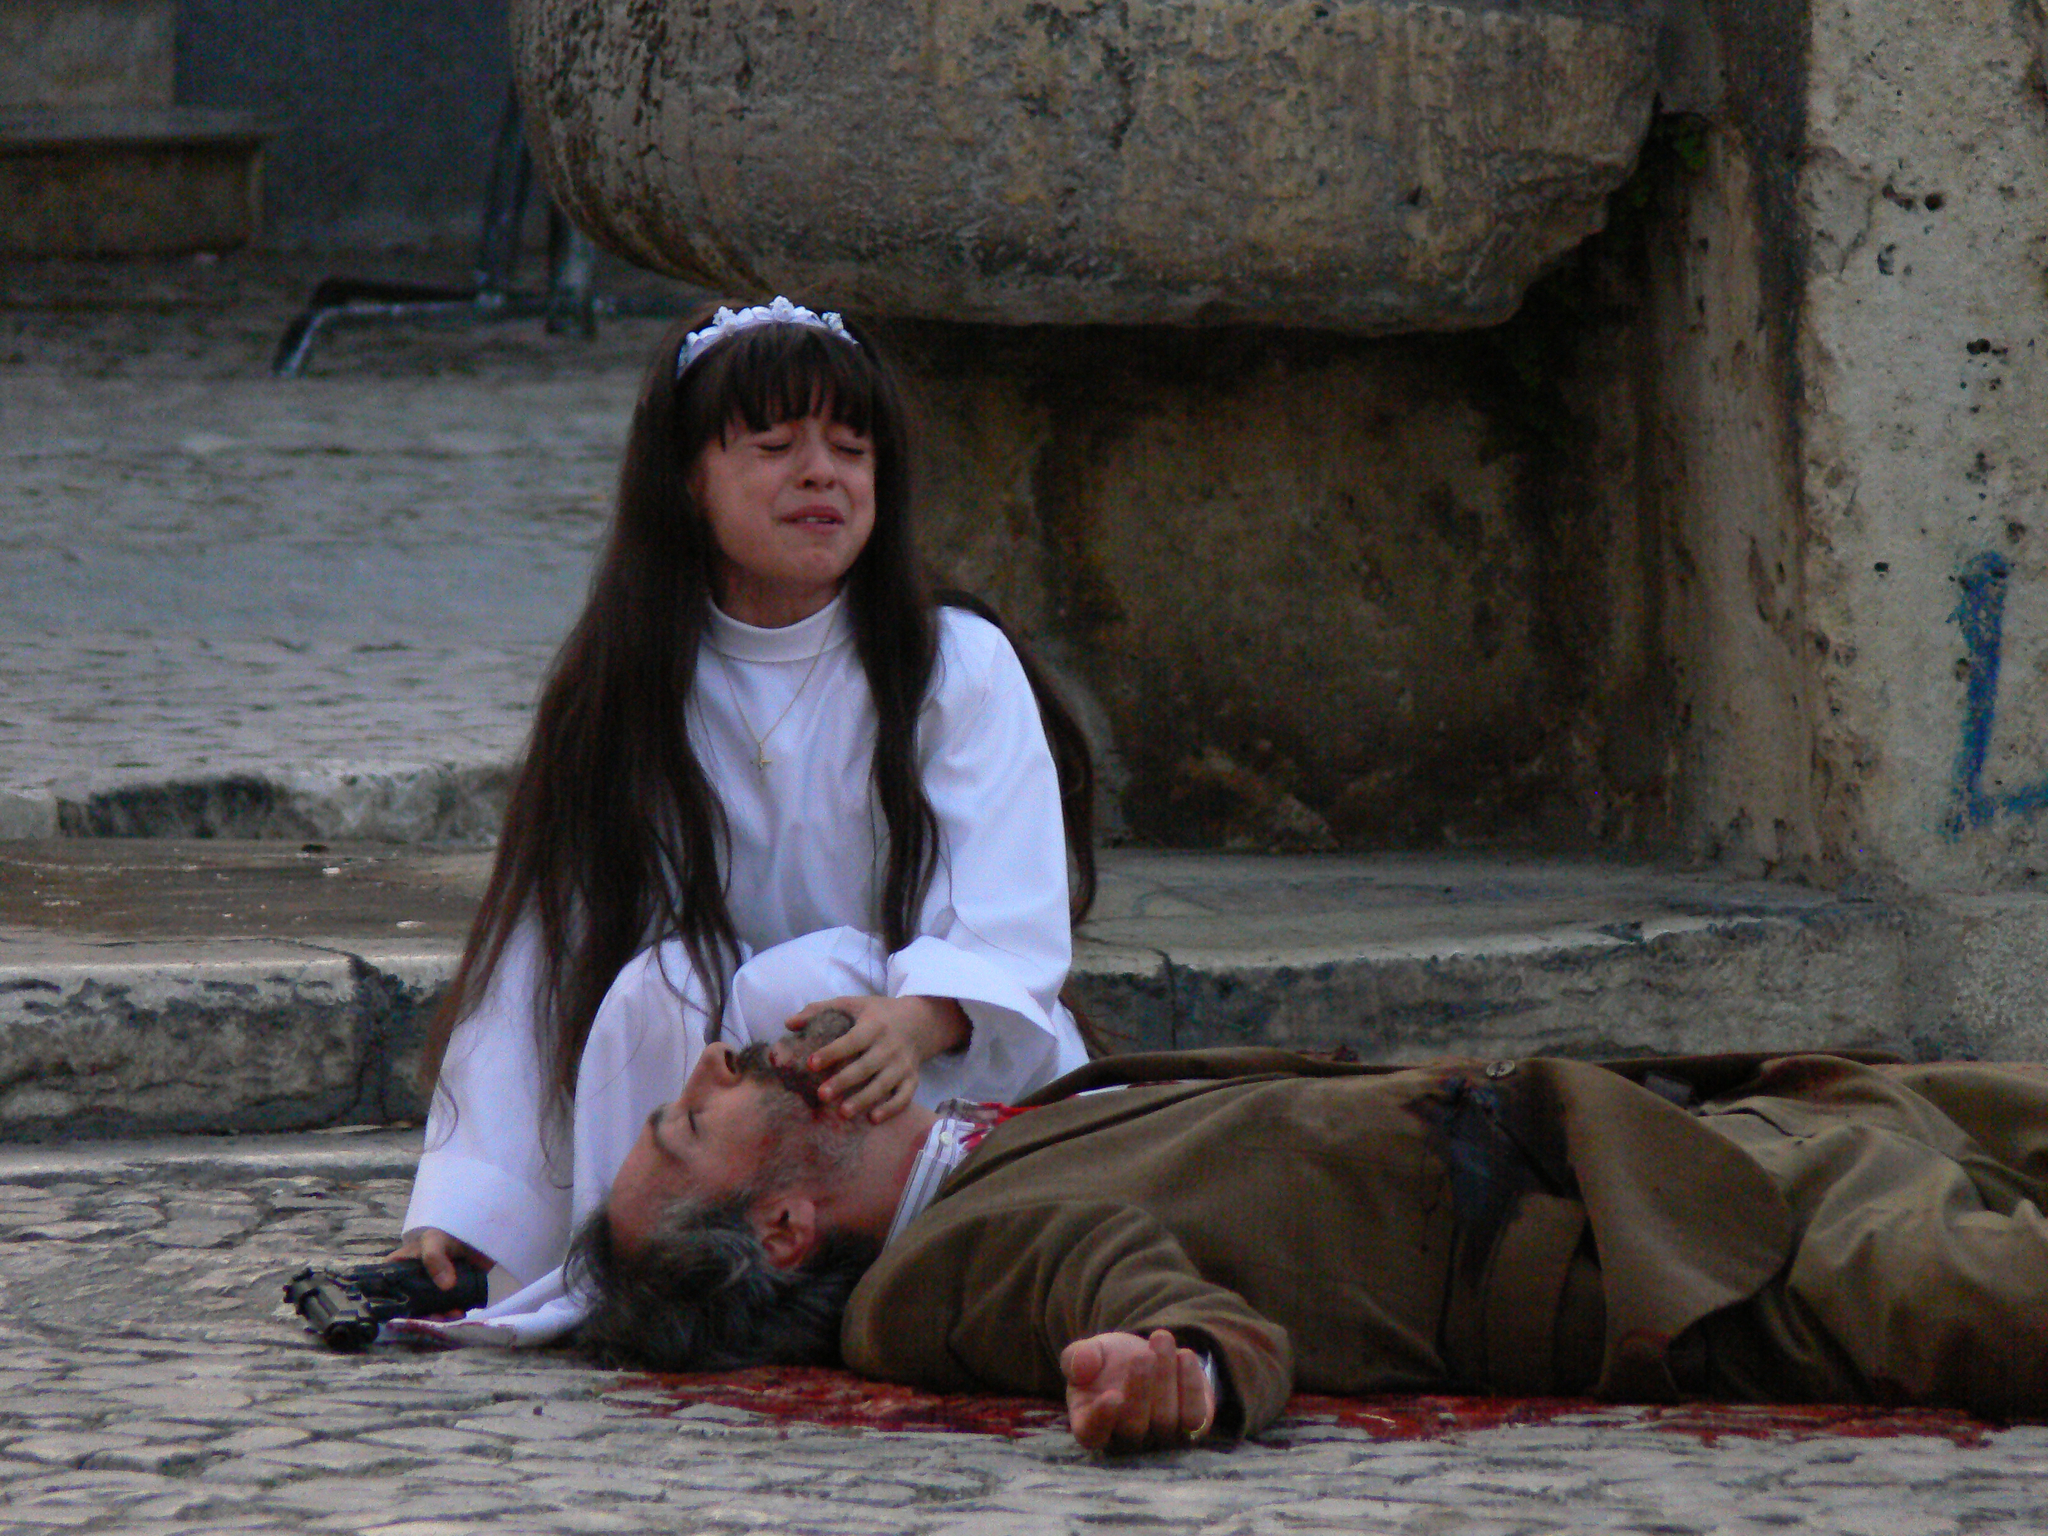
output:
[[[2042,10],[1694,20],[1706,164],[1653,260],[1679,821],[1774,868],[2030,883],[2048,858]]]

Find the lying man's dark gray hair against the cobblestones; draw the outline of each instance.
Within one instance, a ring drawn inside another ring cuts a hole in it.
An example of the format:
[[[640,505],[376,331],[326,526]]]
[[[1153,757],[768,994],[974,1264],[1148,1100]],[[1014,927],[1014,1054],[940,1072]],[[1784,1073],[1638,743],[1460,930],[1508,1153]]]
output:
[[[760,1194],[674,1200],[631,1249],[598,1210],[569,1245],[569,1284],[592,1298],[578,1343],[647,1370],[838,1364],[840,1315],[881,1243],[825,1233],[776,1268],[748,1217]]]

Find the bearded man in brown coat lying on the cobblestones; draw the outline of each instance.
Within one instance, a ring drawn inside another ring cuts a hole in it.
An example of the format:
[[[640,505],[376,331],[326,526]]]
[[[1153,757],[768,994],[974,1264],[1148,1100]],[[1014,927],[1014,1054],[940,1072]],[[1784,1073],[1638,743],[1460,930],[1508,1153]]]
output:
[[[1092,1448],[1294,1389],[2048,1409],[2036,1067],[1171,1053],[883,1126],[807,1092],[707,1049],[655,1112],[571,1257],[600,1358],[1065,1393]]]

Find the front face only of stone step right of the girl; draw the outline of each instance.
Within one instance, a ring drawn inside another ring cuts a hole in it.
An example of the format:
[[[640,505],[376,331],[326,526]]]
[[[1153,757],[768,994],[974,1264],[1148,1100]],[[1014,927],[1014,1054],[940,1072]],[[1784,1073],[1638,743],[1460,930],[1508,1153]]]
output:
[[[1911,924],[1880,903],[1657,930],[1417,940],[1350,954],[1145,956],[1083,944],[1073,987],[1118,1049],[1278,1044],[1362,1061],[1862,1044],[1915,1053]]]

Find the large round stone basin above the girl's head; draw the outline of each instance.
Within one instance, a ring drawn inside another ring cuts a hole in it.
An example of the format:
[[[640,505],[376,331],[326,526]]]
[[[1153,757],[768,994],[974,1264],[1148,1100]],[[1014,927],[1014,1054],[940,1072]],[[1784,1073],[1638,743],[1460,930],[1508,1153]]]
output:
[[[541,174],[719,291],[997,324],[1485,326],[1599,227],[1647,0],[514,0]]]

